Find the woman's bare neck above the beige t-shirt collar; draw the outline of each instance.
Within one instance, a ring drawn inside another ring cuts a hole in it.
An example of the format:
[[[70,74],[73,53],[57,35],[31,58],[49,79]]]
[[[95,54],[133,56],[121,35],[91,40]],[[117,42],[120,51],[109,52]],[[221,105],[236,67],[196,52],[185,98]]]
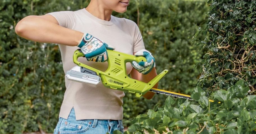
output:
[[[106,9],[102,3],[99,3],[97,0],[93,0],[90,4],[85,8],[89,13],[93,16],[101,19],[109,21],[111,19],[111,14],[113,10]]]

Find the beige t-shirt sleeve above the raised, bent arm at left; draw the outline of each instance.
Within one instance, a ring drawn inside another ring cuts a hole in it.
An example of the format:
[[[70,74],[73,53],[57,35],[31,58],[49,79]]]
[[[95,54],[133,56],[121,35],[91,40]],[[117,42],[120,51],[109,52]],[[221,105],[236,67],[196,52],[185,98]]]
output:
[[[62,27],[72,29],[75,25],[76,18],[73,11],[58,11],[46,15],[52,15]]]

